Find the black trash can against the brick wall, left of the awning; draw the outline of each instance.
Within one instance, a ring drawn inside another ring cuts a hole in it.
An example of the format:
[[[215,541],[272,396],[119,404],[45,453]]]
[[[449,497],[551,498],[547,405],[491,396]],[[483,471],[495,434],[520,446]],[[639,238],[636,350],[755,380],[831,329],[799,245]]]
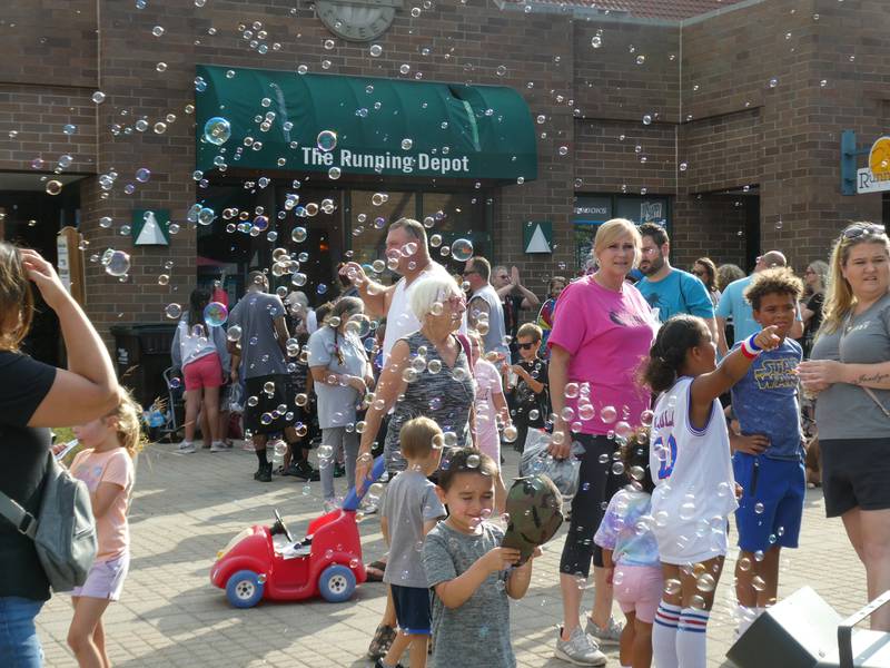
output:
[[[118,380],[130,387],[144,409],[157,399],[167,399],[164,370],[170,366],[170,345],[175,324],[131,323],[115,325],[115,362]]]

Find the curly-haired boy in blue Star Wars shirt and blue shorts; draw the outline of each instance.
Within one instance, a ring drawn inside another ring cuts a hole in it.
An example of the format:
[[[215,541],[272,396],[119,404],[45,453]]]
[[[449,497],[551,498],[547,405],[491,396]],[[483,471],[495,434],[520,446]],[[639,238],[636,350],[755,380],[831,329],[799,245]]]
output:
[[[802,292],[800,278],[780,267],[755,274],[744,293],[754,320],[762,327],[775,325],[782,342],[763,351],[732,389],[740,433],[731,432],[730,442],[735,480],[743,489],[735,511],[740,636],[775,603],[780,551],[797,548],[800,534],[807,489],[797,375],[802,350],[788,333]]]

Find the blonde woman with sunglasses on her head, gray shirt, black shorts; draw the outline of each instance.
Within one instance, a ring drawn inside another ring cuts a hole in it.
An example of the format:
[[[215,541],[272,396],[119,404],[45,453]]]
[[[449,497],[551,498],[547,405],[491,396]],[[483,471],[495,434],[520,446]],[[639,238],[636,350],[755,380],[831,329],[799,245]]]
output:
[[[868,598],[890,589],[890,239],[853,223],[831,253],[822,326],[803,389],[818,395],[825,514],[840,517],[866,567]],[[890,609],[871,616],[890,631]]]

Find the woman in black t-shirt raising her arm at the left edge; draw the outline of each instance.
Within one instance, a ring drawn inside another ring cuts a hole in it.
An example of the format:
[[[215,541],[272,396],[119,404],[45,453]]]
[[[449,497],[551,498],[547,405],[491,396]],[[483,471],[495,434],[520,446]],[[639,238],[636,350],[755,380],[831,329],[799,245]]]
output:
[[[67,370],[19,350],[33,316],[31,283],[59,318]],[[105,415],[118,404],[118,393],[102,340],[52,265],[36,250],[0,242],[0,492],[37,517],[49,428]],[[0,518],[0,666],[41,666],[34,618],[49,597],[33,540]]]

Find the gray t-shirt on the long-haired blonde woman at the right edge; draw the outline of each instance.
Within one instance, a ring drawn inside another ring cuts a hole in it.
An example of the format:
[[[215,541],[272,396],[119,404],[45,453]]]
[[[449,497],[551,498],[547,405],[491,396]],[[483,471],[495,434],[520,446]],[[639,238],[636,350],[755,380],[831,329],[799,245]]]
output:
[[[846,320],[837,332],[820,334],[810,358],[846,364],[880,364],[890,360],[890,294]],[[872,389],[872,392],[890,410],[890,390]],[[834,383],[819,393],[815,422],[823,441],[890,435],[890,420],[874,400],[862,387],[848,383]]]

